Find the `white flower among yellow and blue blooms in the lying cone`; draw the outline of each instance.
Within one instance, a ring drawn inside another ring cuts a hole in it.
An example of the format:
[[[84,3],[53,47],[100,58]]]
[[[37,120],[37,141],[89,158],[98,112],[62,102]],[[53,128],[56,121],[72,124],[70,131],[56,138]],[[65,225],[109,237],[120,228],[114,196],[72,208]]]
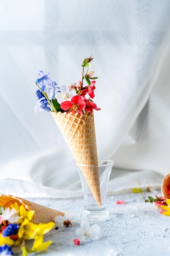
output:
[[[22,218],[17,215],[18,210],[15,210],[14,208],[10,209],[9,207],[0,207],[0,212],[2,213],[2,215],[0,215],[2,220],[8,220],[10,223],[18,222],[18,220]]]

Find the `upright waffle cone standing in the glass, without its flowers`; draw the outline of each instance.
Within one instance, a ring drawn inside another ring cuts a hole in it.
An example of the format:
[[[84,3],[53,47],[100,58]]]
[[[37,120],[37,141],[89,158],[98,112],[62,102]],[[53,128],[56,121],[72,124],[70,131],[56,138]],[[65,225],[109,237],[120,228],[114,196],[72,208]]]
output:
[[[97,165],[97,146],[93,112],[91,115],[78,113],[51,113],[67,142],[77,164]],[[100,195],[99,170],[97,167],[81,167],[86,182],[99,206]]]

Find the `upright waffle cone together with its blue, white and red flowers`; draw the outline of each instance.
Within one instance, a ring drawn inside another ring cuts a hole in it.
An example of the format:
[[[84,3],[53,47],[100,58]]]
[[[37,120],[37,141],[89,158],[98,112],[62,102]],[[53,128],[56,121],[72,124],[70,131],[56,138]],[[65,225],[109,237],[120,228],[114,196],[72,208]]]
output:
[[[35,102],[35,112],[51,112],[57,126],[66,140],[78,164],[97,165],[97,146],[93,110],[100,110],[94,103],[94,71],[89,72],[93,55],[82,62],[82,79],[70,86],[57,86],[49,78],[49,73],[40,71],[36,84],[39,101]],[[86,73],[84,74],[84,69]],[[91,81],[92,80],[92,81]],[[86,81],[86,85],[84,85]],[[82,167],[82,172],[99,206],[101,206],[98,168]]]

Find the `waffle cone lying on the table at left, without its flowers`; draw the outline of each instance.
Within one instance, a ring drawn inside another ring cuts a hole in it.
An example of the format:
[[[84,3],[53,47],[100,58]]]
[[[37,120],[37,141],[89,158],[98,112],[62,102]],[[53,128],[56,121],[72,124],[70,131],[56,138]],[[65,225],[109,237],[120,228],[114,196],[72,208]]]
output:
[[[0,194],[0,206],[9,207],[10,204],[13,204],[14,202],[17,202],[19,207],[23,205],[25,209],[35,211],[32,220],[35,224],[48,223],[51,221],[54,222],[54,218],[56,216],[64,216],[64,213],[61,211],[42,206],[40,204],[35,204],[33,202],[18,198],[13,195]]]

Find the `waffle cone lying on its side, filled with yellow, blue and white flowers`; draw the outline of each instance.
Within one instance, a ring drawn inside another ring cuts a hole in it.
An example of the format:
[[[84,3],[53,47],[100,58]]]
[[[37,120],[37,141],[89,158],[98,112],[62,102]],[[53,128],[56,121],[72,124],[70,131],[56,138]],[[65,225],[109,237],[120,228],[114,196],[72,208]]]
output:
[[[43,235],[55,225],[56,216],[64,213],[12,195],[0,195],[0,254],[22,256],[44,251],[52,241],[43,242]],[[30,242],[30,243],[29,243]]]

